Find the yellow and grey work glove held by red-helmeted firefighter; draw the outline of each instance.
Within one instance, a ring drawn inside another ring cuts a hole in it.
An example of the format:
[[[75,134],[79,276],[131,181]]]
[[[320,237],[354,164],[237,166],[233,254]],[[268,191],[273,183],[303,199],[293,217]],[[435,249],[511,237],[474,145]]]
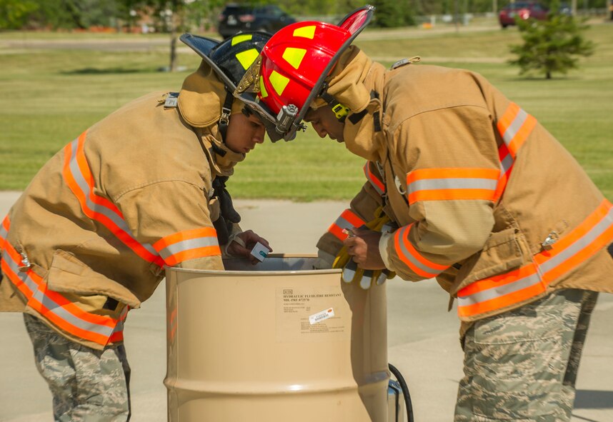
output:
[[[389,223],[389,217],[383,213],[382,207],[379,207],[374,211],[374,218],[364,226],[373,231],[387,231],[387,223]],[[346,246],[343,246],[339,251],[337,257],[334,259],[332,268],[343,268],[341,276],[342,281],[345,283],[357,281],[359,282],[359,286],[364,288],[364,290],[370,288],[373,281],[377,286],[380,286],[386,280],[389,280],[389,278],[394,278],[396,276],[394,271],[389,271],[388,269],[364,270],[363,268],[359,268],[357,263],[355,263],[351,256],[349,256],[349,253],[347,253]]]

